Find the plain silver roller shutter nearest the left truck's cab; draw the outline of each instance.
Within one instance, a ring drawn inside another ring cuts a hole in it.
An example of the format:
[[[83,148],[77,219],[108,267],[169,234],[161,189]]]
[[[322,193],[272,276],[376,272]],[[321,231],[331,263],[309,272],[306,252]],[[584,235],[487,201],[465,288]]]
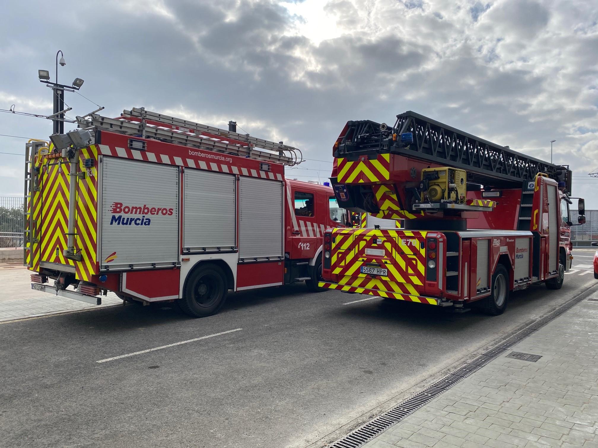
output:
[[[242,176],[239,184],[239,259],[282,258],[282,182]]]

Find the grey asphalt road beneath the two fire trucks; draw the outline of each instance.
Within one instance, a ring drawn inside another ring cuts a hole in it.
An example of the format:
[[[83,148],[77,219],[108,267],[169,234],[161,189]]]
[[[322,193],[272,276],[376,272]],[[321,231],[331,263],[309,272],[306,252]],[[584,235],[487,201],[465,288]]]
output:
[[[576,251],[574,263],[591,265],[593,253]],[[512,294],[498,317],[382,299],[344,305],[364,296],[297,285],[231,294],[199,320],[128,305],[0,324],[0,446],[323,446],[597,284],[583,272],[560,291]]]

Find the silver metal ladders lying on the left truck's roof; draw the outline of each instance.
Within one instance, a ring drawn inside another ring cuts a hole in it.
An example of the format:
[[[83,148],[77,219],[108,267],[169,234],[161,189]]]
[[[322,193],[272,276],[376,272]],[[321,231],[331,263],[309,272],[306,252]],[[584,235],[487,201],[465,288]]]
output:
[[[292,146],[225,131],[161,113],[145,111],[144,108],[125,110],[123,115],[117,118],[108,118],[96,113],[90,114],[89,118],[78,116],[77,124],[80,128],[97,127],[100,130],[157,139],[176,145],[192,146],[289,166],[299,164],[303,158],[300,149]],[[267,151],[261,151],[255,147]]]

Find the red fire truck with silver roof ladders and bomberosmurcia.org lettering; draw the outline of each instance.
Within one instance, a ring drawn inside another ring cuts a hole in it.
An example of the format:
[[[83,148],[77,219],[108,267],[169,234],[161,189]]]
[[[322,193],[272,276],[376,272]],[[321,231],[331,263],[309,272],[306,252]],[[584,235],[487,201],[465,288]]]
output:
[[[32,289],[176,300],[196,317],[228,290],[318,290],[322,234],[347,217],[329,186],[285,178],[298,149],[143,108],[78,124],[26,148]]]

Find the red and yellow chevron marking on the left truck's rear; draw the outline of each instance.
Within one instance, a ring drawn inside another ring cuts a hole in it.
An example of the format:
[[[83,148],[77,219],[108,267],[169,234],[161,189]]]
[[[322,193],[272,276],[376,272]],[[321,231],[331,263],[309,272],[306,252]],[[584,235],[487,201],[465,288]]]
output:
[[[51,151],[50,146],[50,151]],[[50,152],[50,154],[52,154]],[[53,155],[54,156],[54,155]],[[85,159],[93,159],[94,167],[85,168]],[[39,271],[39,262],[75,266],[78,280],[91,280],[97,273],[97,149],[92,145],[80,150],[79,169],[85,176],[77,179],[77,208],[75,210],[75,249],[81,261],[75,262],[63,255],[67,247],[70,164],[62,157],[39,156],[39,191],[32,194],[33,221],[38,229],[39,243],[32,243],[28,262]]]

